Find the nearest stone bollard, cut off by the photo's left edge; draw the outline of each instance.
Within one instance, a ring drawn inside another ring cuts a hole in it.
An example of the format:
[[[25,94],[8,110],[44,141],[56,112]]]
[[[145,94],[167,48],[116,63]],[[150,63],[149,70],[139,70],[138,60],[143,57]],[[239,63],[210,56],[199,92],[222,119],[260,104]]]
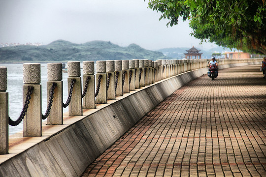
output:
[[[7,68],[0,66],[0,154],[8,154]]]

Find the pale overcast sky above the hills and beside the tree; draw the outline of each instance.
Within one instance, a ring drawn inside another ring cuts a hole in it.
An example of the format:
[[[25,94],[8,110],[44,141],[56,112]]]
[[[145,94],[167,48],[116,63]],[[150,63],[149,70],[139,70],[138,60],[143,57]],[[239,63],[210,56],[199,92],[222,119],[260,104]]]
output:
[[[167,28],[167,20],[159,21],[161,13],[147,6],[148,0],[0,0],[0,43],[45,45],[63,39],[135,43],[149,50],[199,47],[188,21]]]

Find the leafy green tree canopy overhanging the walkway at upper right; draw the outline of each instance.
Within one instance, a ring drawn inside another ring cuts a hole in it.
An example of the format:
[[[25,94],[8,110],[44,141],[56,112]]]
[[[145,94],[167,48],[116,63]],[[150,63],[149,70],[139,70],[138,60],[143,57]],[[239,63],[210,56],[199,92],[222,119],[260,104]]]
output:
[[[191,35],[201,41],[266,54],[266,0],[149,0],[167,26],[189,19]]]

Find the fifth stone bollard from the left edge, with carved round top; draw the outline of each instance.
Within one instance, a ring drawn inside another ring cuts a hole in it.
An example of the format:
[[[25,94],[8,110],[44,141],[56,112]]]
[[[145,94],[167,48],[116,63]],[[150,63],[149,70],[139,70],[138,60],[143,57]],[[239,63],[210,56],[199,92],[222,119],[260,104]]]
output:
[[[87,77],[89,77],[87,93],[83,97],[83,109],[95,109],[95,76],[94,76],[94,61],[83,61],[83,90]]]

